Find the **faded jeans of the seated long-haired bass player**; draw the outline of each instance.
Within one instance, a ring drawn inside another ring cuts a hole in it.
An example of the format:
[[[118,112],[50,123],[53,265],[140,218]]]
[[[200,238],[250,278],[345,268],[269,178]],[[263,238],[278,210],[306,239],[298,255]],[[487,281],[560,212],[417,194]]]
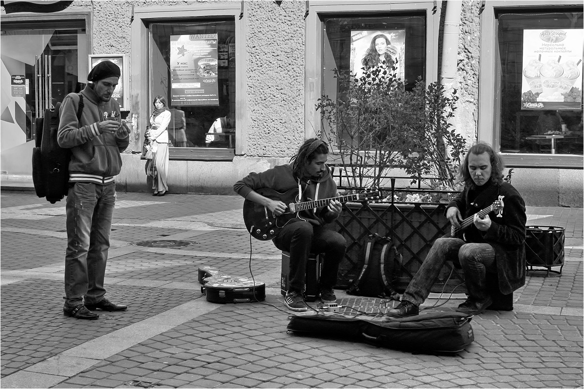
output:
[[[457,238],[439,238],[410,281],[402,300],[416,306],[422,304],[446,261],[459,263],[463,268],[468,296],[472,300],[482,302],[488,299],[490,293],[486,286],[486,273],[497,271],[493,247],[488,243],[465,243]]]

